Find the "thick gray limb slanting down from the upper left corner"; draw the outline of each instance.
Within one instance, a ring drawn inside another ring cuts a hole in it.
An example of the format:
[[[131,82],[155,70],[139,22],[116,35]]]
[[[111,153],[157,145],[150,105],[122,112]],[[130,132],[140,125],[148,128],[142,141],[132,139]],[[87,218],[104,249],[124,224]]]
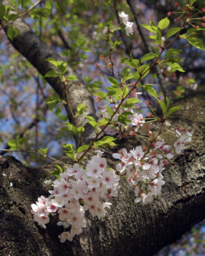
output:
[[[0,3],[6,5],[10,5],[9,1],[1,0]],[[30,27],[24,22],[23,19],[15,20],[12,24],[16,28],[18,28],[18,36],[13,39],[11,42],[12,45],[31,62],[31,64],[36,67],[36,69],[42,74],[45,75],[49,70],[55,70],[53,64],[46,61],[45,59],[53,58],[56,61],[63,61],[62,57],[58,54],[53,52],[45,42],[42,42],[39,37],[36,36],[34,31],[30,29]],[[6,26],[4,31],[7,33],[9,26]],[[78,80],[71,81],[67,86],[67,92],[69,95],[69,103],[71,105],[71,110],[73,111],[74,115],[77,112],[77,105],[84,102],[85,106],[88,106],[88,109],[85,110],[85,116],[93,116],[96,118],[96,110],[93,105],[93,95],[90,94],[88,91],[88,87],[83,83],[82,78],[80,75],[69,67],[67,64],[66,66],[68,69],[65,76],[68,75],[75,75]],[[64,85],[59,78],[46,78],[47,82],[50,83],[50,86],[56,91],[56,93],[67,102],[66,98],[66,91],[64,89]],[[78,85],[80,83],[81,85]],[[66,112],[69,117],[69,121],[74,124],[74,118],[71,115],[71,111],[69,110],[68,105],[65,105]],[[79,115],[75,118],[75,122],[77,127],[85,127],[85,132],[83,133],[84,142],[88,142],[95,138],[95,132],[93,127],[88,124],[87,119]],[[75,138],[77,141],[77,146],[80,145],[79,138]]]

